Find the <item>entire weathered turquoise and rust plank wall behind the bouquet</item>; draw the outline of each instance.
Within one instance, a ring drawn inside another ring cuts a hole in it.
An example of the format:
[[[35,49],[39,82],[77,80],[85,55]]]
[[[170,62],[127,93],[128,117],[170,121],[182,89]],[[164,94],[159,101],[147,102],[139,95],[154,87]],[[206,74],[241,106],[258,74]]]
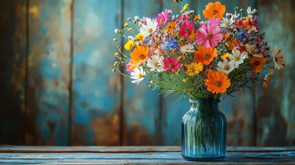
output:
[[[209,0],[183,0],[202,13]],[[259,26],[287,58],[267,89],[222,100],[227,145],[295,145],[292,0],[223,0],[258,9]],[[114,34],[128,17],[156,17],[171,1],[0,1],[0,144],[179,145],[187,99],[163,97],[112,72]],[[272,102],[272,104],[269,104]]]

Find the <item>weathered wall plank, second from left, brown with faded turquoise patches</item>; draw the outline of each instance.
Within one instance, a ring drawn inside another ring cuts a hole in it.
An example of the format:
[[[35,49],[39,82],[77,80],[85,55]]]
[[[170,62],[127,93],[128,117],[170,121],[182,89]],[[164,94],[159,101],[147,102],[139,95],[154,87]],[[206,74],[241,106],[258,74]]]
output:
[[[26,144],[69,144],[71,4],[29,1]]]

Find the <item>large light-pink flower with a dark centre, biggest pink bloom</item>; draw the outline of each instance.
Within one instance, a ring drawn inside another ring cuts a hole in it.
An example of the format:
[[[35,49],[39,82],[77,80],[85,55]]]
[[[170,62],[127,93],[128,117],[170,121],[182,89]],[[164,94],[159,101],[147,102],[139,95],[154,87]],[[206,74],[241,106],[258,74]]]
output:
[[[196,43],[203,47],[216,47],[223,39],[221,28],[215,23],[205,23],[196,30]]]

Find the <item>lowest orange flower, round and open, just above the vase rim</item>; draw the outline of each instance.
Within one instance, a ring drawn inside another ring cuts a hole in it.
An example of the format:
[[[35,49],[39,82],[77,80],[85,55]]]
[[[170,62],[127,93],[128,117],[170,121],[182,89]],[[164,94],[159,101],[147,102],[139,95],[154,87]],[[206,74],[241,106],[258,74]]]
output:
[[[205,79],[205,85],[212,94],[224,94],[226,89],[230,87],[230,79],[228,79],[225,73],[214,71],[208,74],[208,77]]]

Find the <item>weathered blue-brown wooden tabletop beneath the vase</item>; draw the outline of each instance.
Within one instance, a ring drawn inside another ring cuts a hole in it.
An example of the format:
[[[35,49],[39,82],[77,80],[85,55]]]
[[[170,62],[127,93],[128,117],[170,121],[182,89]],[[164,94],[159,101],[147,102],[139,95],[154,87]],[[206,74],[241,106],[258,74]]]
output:
[[[179,146],[0,146],[0,164],[295,164],[295,147],[228,147],[221,162],[189,162]]]

